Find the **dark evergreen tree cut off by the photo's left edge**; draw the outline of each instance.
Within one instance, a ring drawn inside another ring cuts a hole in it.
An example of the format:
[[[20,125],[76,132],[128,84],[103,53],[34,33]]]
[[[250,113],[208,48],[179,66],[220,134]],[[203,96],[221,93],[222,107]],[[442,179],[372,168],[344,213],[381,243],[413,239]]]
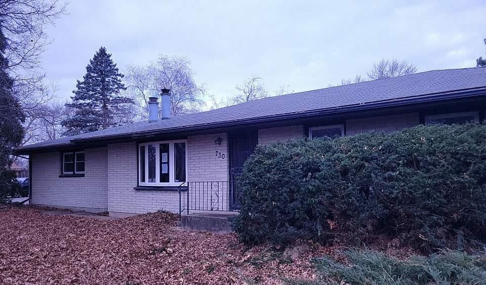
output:
[[[9,75],[9,62],[5,58],[7,39],[2,28],[0,22],[0,204],[18,186],[14,179],[15,172],[10,170],[11,155],[22,141],[22,123],[25,120],[13,94],[14,81]]]

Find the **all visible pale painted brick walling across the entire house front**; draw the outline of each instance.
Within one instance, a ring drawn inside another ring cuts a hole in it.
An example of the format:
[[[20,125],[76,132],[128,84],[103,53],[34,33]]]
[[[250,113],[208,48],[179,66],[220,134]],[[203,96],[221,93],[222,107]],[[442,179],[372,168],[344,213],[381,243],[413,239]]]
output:
[[[394,131],[419,123],[419,114],[398,114],[346,121],[346,134],[362,131]],[[303,137],[302,125],[258,130],[261,145]],[[221,145],[215,139],[222,138]],[[194,135],[187,138],[187,180],[228,181],[227,134]],[[223,158],[224,157],[224,158]],[[111,215],[140,214],[157,210],[179,211],[177,191],[136,191],[136,143],[111,144],[86,150],[85,177],[59,178],[60,153],[32,155],[32,202],[34,204],[108,209]],[[211,189],[211,188],[210,188]],[[228,205],[228,185],[219,189],[222,208]],[[195,199],[211,203],[211,192]],[[208,196],[209,195],[209,196]],[[192,197],[190,198],[192,203]],[[204,202],[203,202],[204,203]]]

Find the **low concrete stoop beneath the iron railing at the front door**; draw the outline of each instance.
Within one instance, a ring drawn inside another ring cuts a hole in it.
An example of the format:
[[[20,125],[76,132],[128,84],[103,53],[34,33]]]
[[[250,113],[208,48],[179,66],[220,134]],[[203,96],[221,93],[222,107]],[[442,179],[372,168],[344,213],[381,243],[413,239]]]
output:
[[[231,223],[228,218],[236,215],[237,212],[200,212],[181,216],[181,226],[185,229],[230,232]]]

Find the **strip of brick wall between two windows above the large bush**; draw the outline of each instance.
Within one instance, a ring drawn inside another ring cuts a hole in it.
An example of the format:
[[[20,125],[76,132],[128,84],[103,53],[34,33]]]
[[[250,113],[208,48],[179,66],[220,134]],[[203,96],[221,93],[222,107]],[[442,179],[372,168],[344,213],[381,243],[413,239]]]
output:
[[[353,135],[372,130],[392,132],[407,127],[413,127],[419,123],[419,113],[351,119],[346,121],[346,135]]]

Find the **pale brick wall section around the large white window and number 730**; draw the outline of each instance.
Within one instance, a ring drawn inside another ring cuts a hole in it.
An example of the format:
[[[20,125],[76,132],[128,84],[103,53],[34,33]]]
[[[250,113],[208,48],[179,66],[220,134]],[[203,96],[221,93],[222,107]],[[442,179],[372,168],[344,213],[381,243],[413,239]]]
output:
[[[222,138],[217,146],[214,140]],[[226,134],[189,136],[187,138],[188,181],[228,180],[228,158]],[[137,153],[135,143],[108,146],[108,211],[112,216],[119,213],[148,213],[157,210],[179,212],[177,191],[136,191]],[[224,154],[224,159],[216,155]],[[221,189],[221,197],[226,197]],[[202,197],[201,197],[202,198]],[[192,199],[192,198],[191,198]],[[201,199],[199,199],[201,200]],[[205,201],[210,201],[206,197]],[[191,200],[192,202],[192,200]],[[227,203],[223,200],[222,203]],[[224,204],[226,205],[226,204]]]

